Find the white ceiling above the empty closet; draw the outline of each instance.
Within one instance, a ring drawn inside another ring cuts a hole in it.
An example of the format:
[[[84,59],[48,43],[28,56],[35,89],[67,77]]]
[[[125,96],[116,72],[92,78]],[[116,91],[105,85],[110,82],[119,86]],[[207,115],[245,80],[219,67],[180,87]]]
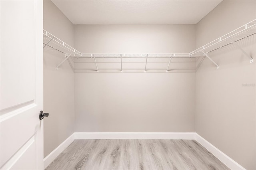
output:
[[[222,0],[52,0],[73,24],[196,24]]]

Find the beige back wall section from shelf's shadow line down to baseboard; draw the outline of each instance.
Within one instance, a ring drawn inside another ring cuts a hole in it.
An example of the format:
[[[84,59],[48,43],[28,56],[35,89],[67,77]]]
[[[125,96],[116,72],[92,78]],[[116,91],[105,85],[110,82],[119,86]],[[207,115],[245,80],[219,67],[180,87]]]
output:
[[[194,132],[195,73],[75,73],[76,132]]]

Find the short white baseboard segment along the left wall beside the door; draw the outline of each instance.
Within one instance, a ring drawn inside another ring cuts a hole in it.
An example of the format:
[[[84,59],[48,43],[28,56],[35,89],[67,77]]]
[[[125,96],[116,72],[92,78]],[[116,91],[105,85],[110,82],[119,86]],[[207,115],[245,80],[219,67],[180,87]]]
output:
[[[70,145],[73,141],[75,140],[74,138],[74,133],[71,134],[64,142],[62,142],[57,148],[55,148],[50,154],[48,154],[44,158],[44,169],[54,161],[55,158],[57,158],[63,150],[65,150],[68,145]]]

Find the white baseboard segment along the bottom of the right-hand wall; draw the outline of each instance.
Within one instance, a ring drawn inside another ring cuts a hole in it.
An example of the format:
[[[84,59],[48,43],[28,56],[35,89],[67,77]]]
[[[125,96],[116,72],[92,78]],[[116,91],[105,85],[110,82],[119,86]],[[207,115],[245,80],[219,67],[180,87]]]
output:
[[[238,164],[228,155],[224,154],[222,151],[220,151],[218,148],[213,146],[210,142],[205,140],[202,136],[200,136],[197,133],[195,133],[195,140],[198,143],[200,143],[202,146],[204,146],[204,148],[206,148],[208,151],[210,151],[214,156],[216,156],[216,158],[218,158],[226,166],[228,166],[228,168],[232,170],[245,170],[244,167],[242,167],[240,164]]]

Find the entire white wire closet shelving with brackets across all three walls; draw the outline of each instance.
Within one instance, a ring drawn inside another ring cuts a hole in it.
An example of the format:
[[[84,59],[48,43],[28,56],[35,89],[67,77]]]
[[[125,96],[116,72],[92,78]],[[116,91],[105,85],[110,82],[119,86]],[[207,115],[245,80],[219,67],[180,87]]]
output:
[[[63,42],[62,40],[56,38],[55,36],[53,36],[52,34],[50,34],[49,32],[47,32],[46,30],[43,30],[43,36],[44,36],[44,47],[48,46],[52,49],[56,49],[62,53],[65,54],[65,59],[57,66],[60,67],[60,65],[66,61],[66,59],[68,59],[68,57],[73,57],[74,59],[91,59],[93,60],[94,64],[95,64],[95,69],[92,69],[92,71],[97,71],[99,72],[99,67],[97,65],[97,62],[101,62],[101,63],[105,63],[103,60],[104,59],[111,59],[111,58],[119,58],[118,62],[120,62],[120,69],[113,69],[113,70],[119,70],[119,71],[123,71],[123,64],[125,64],[125,59],[128,58],[134,58],[134,59],[139,59],[139,58],[144,58],[144,68],[140,68],[140,69],[131,69],[130,71],[135,71],[135,70],[144,70],[144,72],[148,71],[147,69],[147,62],[148,59],[151,58],[156,58],[156,59],[168,59],[168,60],[164,60],[164,62],[166,64],[168,64],[167,69],[160,69],[162,71],[166,71],[168,72],[169,69],[169,65],[172,61],[172,58],[196,58],[196,57],[200,57],[200,56],[205,56],[208,57],[208,59],[210,59],[210,61],[212,61],[212,63],[214,65],[217,66],[217,69],[219,68],[218,64],[215,63],[209,56],[208,53],[215,51],[217,49],[220,49],[222,47],[225,47],[226,45],[230,45],[230,44],[234,44],[236,45],[249,59],[250,59],[250,63],[253,62],[253,59],[250,55],[248,55],[246,53],[246,51],[244,51],[236,42],[244,39],[244,38],[248,38],[249,36],[252,36],[256,34],[256,19],[252,20],[251,22],[244,24],[243,26],[237,28],[236,30],[225,34],[224,36],[221,36],[220,38],[217,38],[216,40],[207,43],[206,45],[203,45],[202,47],[195,49],[194,51],[190,52],[190,53],[81,53],[80,51],[74,49],[73,47],[71,47],[70,45],[66,44],[65,42]],[[100,60],[100,61],[97,61]],[[102,60],[103,59],[103,60]],[[155,60],[154,60],[155,61]],[[92,62],[92,61],[91,61]],[[156,63],[158,61],[155,61]],[[162,61],[159,61],[159,63],[161,63]],[[129,63],[126,61],[126,63]],[[133,63],[133,62],[130,62]],[[150,63],[150,62],[149,62]],[[167,65],[166,65],[167,66]],[[104,69],[103,69],[104,70]],[[108,69],[108,71],[110,71],[111,69]]]

